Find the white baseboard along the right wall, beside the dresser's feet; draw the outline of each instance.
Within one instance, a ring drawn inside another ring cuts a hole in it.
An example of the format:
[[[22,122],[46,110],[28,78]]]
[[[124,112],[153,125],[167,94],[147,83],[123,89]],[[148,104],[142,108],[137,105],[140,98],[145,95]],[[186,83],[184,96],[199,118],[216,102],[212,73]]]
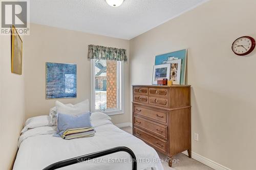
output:
[[[187,151],[184,151],[182,153],[188,156]],[[207,166],[209,166],[209,167],[211,167],[215,170],[231,170],[231,169],[229,169],[229,168],[227,168],[227,167],[225,167],[225,166],[223,166],[223,165],[221,165],[221,164],[219,164],[215,161],[212,161],[208,158],[205,158],[205,157],[203,157],[203,156],[201,156],[201,155],[199,155],[195,152],[192,152],[191,156],[192,156],[193,159],[195,159],[195,160],[197,160],[197,161],[199,161],[199,162],[201,162],[201,163],[203,163],[203,164],[205,164],[205,165],[207,165]]]

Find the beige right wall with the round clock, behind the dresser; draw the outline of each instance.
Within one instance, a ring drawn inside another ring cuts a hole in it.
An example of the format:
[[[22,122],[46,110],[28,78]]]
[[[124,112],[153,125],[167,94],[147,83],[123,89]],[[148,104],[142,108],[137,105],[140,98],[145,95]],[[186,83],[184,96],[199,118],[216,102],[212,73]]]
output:
[[[188,49],[192,85],[192,151],[231,169],[256,167],[256,49],[231,51],[243,35],[256,39],[256,1],[212,0],[130,42],[131,84],[151,84],[154,56]],[[193,136],[193,135],[192,135]]]

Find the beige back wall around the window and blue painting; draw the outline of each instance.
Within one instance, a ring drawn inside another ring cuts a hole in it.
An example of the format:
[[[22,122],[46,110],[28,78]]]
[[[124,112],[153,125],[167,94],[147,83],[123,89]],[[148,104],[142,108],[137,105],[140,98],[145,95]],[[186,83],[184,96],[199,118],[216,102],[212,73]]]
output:
[[[125,48],[129,58],[127,40],[31,24],[25,47],[26,118],[49,114],[55,106],[56,100],[46,100],[46,62],[77,64],[77,99],[58,99],[60,102],[75,104],[91,99],[89,44]],[[124,86],[130,89],[129,61],[124,63],[124,74]],[[129,95],[125,90],[125,96]],[[114,124],[130,122],[130,99],[125,98],[124,109],[124,114],[112,116]]]

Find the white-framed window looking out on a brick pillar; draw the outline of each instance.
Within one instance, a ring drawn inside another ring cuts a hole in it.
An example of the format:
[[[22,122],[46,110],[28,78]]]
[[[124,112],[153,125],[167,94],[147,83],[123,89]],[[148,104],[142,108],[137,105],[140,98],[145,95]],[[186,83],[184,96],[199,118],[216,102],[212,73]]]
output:
[[[92,59],[91,68],[92,111],[123,113],[123,63]]]

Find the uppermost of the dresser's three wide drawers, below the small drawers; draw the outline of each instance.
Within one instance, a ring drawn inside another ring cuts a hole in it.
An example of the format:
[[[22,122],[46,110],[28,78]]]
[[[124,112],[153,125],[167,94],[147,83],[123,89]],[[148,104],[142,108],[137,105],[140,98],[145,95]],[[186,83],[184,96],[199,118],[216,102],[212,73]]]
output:
[[[157,120],[158,122],[167,123],[167,112],[165,111],[153,110],[151,108],[134,105],[134,113]]]

